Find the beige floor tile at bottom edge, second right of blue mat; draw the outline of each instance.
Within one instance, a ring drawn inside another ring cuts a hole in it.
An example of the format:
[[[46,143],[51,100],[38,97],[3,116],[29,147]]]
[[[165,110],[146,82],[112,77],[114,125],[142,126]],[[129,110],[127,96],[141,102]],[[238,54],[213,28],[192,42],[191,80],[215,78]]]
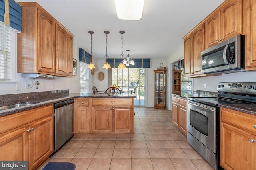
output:
[[[111,158],[92,158],[87,170],[109,170]]]

